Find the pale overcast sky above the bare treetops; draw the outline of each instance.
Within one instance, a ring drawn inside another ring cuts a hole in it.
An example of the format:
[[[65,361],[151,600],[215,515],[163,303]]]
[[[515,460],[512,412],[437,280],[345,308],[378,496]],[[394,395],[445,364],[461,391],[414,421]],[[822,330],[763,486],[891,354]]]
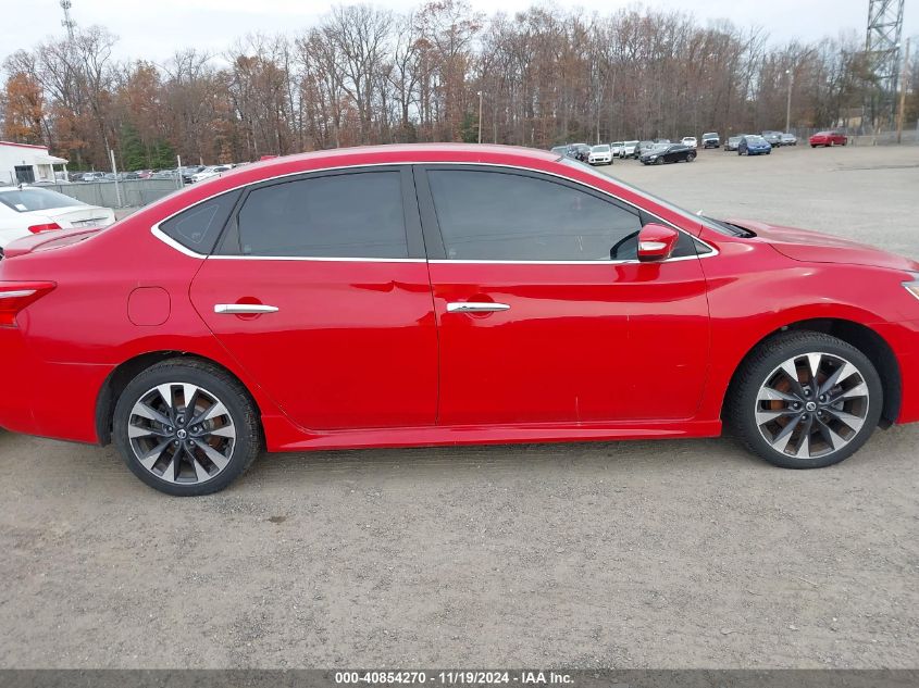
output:
[[[220,53],[247,33],[294,35],[315,24],[338,2],[318,0],[72,0],[77,24],[101,24],[119,36],[119,59],[142,58],[161,63],[175,49],[194,46]],[[470,0],[473,9],[509,14],[548,0]],[[347,4],[347,1],[341,3]],[[370,4],[402,12],[420,0],[371,0]],[[635,7],[633,0],[579,0],[557,2],[588,12],[609,14]],[[645,0],[644,7],[681,10],[700,24],[730,18],[738,25],[761,26],[774,41],[793,38],[814,40],[854,30],[865,35],[868,0]],[[763,8],[768,7],[768,11]],[[18,48],[30,48],[50,36],[63,35],[59,0],[0,0],[0,59]],[[919,51],[919,0],[906,0],[904,38],[912,37],[912,54]]]

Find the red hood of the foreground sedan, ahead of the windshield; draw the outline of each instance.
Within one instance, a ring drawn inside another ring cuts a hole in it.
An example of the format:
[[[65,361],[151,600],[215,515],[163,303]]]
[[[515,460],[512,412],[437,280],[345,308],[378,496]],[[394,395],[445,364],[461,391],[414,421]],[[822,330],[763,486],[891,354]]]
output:
[[[768,242],[777,251],[796,261],[808,263],[847,263],[849,265],[869,265],[889,267],[906,272],[919,272],[919,263],[896,253],[834,237],[829,234],[777,227],[752,220],[730,220],[733,225],[755,233],[757,238]]]

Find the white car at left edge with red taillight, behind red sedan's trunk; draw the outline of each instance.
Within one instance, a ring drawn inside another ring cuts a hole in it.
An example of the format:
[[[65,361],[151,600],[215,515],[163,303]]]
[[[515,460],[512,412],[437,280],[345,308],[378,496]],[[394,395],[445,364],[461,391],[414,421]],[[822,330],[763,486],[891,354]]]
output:
[[[39,232],[108,227],[114,222],[111,208],[87,205],[51,189],[0,187],[0,248]]]

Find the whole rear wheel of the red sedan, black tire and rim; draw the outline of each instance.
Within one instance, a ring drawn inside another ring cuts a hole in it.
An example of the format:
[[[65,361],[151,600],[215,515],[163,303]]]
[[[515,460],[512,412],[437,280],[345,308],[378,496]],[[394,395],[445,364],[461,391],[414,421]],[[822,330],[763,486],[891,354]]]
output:
[[[188,401],[195,404],[197,425],[185,415]],[[246,472],[262,447],[258,410],[239,381],[216,366],[185,359],[157,363],[131,380],[115,404],[112,429],[132,473],[176,497],[222,490]]]

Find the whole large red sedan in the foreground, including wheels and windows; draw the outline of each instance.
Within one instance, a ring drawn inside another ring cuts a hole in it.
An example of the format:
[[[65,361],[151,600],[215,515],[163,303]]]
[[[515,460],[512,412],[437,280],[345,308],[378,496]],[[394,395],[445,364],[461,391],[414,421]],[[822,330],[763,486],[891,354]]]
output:
[[[708,437],[774,464],[919,421],[919,264],[700,217],[557,154],[323,151],[0,261],[0,425],[202,495],[269,451]]]

